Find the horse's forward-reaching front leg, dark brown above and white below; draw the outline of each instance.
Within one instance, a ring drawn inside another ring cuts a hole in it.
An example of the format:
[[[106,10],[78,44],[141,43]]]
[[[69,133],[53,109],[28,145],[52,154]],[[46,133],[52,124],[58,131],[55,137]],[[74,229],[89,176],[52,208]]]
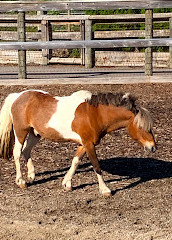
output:
[[[95,151],[95,146],[93,143],[86,144],[86,152],[88,154],[88,157],[93,164],[94,171],[97,174],[98,177],[98,183],[99,183],[99,192],[103,196],[110,197],[111,196],[111,190],[106,186],[103,176],[102,176],[102,171],[100,168],[100,164],[98,162],[97,156],[96,156],[96,151]]]

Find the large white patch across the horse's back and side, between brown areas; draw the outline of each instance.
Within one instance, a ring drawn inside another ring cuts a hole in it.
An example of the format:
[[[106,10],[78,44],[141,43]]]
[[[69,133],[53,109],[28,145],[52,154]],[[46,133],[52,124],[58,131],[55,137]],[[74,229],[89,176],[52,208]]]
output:
[[[73,139],[81,142],[80,136],[72,131],[72,122],[75,117],[77,107],[91,99],[92,93],[89,91],[78,91],[71,96],[55,97],[58,100],[57,109],[47,123],[47,128],[54,128],[64,139]]]

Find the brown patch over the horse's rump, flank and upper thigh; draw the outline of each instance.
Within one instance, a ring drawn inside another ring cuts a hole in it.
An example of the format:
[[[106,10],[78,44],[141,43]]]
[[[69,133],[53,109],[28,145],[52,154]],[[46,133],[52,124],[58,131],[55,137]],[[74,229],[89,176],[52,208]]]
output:
[[[42,137],[48,139],[61,138],[57,131],[46,128],[47,122],[56,111],[57,102],[58,100],[53,96],[38,91],[24,92],[17,98],[13,103],[11,112],[16,135],[20,143],[24,142],[31,127]]]

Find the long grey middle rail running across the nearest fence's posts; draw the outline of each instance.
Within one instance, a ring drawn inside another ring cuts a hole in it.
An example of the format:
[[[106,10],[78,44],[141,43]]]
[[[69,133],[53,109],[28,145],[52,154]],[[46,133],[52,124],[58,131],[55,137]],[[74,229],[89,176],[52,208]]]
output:
[[[127,39],[127,40],[82,40],[47,42],[0,42],[1,50],[29,50],[56,48],[115,48],[115,47],[155,47],[172,46],[172,38]]]

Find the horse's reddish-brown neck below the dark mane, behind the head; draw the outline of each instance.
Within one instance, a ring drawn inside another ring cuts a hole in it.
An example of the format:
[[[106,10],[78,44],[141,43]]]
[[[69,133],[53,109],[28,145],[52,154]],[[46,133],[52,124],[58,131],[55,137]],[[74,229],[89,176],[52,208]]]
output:
[[[134,118],[134,114],[124,107],[113,105],[99,106],[102,123],[106,132],[111,132],[119,128],[128,126],[129,121]]]

